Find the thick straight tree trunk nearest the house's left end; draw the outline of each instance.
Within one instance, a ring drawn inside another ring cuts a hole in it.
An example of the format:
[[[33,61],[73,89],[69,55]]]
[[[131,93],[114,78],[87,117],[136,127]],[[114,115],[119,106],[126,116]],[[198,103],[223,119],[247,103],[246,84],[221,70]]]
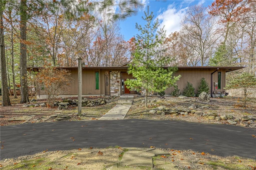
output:
[[[20,1],[20,103],[28,102],[27,84],[27,0]]]

